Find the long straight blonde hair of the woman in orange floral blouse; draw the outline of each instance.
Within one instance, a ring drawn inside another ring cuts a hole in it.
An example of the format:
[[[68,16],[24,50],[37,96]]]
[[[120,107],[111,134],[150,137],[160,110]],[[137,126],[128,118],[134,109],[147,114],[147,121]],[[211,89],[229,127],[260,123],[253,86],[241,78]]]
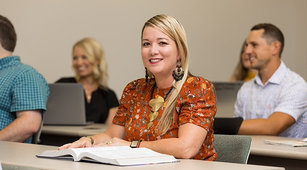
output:
[[[176,18],[170,15],[166,14],[156,15],[150,18],[147,22],[145,22],[142,29],[141,40],[143,39],[143,32],[145,27],[156,28],[161,32],[163,32],[164,34],[166,34],[167,36],[169,36],[170,38],[172,38],[176,42],[179,53],[181,55],[182,68],[184,70],[183,79],[178,82],[176,82],[175,80],[172,82],[173,90],[171,91],[168,99],[166,100],[164,113],[157,126],[160,135],[164,135],[174,121],[174,111],[176,107],[176,101],[179,92],[189,74],[188,73],[189,54],[188,54],[187,38],[181,23]],[[147,70],[147,73],[149,78],[155,78],[149,70]]]

